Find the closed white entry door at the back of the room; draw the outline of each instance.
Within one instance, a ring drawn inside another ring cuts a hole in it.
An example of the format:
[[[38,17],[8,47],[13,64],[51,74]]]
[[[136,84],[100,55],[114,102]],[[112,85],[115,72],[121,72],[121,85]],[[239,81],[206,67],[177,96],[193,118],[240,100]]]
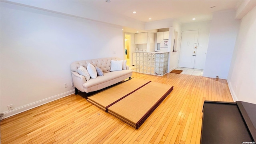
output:
[[[183,31],[179,67],[194,68],[199,30]]]

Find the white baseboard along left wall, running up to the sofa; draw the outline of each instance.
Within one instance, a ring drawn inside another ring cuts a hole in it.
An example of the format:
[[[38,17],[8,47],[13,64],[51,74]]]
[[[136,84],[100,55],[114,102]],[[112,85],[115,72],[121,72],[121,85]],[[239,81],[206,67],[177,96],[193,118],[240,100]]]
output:
[[[43,99],[43,100],[39,100],[37,102],[33,102],[31,104],[27,104],[25,106],[21,106],[19,108],[15,108],[14,110],[3,112],[4,118],[8,118],[10,116],[14,116],[15,114],[19,114],[21,112],[25,112],[27,110],[30,110],[32,108],[36,108],[38,106],[42,106],[43,104],[47,104],[47,103],[52,102],[54,100],[58,100],[60,98],[64,98],[65,96],[69,96],[70,94],[74,94],[74,93],[75,93],[75,90],[70,90],[68,92],[64,92],[62,94],[58,94],[58,95],[52,96],[50,98],[46,98],[46,99]]]

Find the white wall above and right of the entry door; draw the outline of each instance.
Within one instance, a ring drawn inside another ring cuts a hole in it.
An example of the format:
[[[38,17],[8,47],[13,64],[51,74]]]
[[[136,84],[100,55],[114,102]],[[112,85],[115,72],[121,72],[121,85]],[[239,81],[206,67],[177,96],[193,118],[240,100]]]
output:
[[[206,59],[206,52],[208,47],[208,40],[210,35],[211,21],[194,22],[182,24],[181,30],[199,30],[198,43],[199,46],[196,51],[196,59],[194,68],[204,69]]]

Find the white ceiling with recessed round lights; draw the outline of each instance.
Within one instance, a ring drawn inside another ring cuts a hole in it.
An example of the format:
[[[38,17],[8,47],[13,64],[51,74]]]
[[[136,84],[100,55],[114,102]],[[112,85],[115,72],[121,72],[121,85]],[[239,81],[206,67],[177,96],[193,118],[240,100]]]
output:
[[[142,22],[175,18],[184,24],[212,20],[212,12],[236,10],[242,0],[111,0],[111,2],[85,0],[80,2],[98,10],[120,14]],[[215,7],[210,8],[212,6]],[[133,14],[133,11],[137,13]]]

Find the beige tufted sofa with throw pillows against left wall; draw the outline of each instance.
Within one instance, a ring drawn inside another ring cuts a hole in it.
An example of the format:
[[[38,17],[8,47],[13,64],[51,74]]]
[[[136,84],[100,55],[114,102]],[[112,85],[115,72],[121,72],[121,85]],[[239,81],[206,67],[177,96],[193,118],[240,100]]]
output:
[[[132,76],[132,70],[129,70],[128,66],[126,66],[127,70],[110,72],[111,60],[120,59],[118,57],[111,57],[73,62],[70,69],[76,94],[78,93],[78,90],[86,93],[101,90],[102,88],[106,88]],[[95,79],[91,78],[90,80],[86,81],[84,76],[78,74],[78,68],[80,66],[87,68],[87,64],[89,63],[93,66],[101,68],[104,76],[97,76]]]

